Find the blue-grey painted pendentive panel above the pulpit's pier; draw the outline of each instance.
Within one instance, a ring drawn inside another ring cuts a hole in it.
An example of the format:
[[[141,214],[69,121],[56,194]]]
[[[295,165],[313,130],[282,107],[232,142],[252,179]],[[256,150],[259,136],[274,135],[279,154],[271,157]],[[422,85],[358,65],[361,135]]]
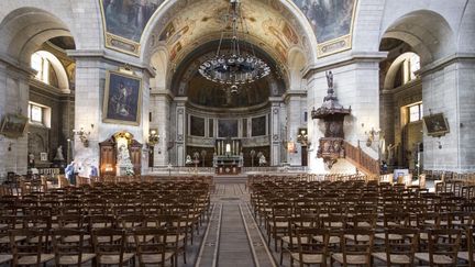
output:
[[[309,20],[319,56],[351,48],[356,0],[294,0]]]

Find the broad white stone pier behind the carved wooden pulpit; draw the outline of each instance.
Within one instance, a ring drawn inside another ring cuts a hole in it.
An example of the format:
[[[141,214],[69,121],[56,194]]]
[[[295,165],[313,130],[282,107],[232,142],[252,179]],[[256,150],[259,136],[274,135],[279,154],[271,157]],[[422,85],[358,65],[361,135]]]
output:
[[[368,137],[365,132],[379,130],[379,62],[386,53],[364,53],[352,58],[336,58],[327,62],[325,65],[316,66],[305,70],[308,80],[308,109],[318,109],[327,96],[325,70],[332,70],[334,79],[334,91],[340,103],[349,108],[352,113],[345,118],[343,131],[345,141],[361,147],[373,158],[378,158],[378,140],[367,147]],[[340,56],[340,55],[339,55]],[[324,136],[324,124],[320,120],[308,120],[309,141],[312,143],[309,154],[309,168],[312,173],[354,173],[355,168],[344,159],[327,169],[323,159],[317,158],[318,141]]]

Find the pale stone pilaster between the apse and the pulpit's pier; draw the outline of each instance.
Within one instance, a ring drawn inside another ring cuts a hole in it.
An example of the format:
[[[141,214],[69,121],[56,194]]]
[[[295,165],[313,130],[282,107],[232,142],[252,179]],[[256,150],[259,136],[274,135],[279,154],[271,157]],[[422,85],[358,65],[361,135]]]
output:
[[[287,152],[287,163],[291,166],[301,166],[301,144],[297,143],[299,127],[307,127],[303,122],[303,113],[307,111],[307,92],[303,90],[291,90],[285,96],[287,108],[287,141],[296,144],[297,152]]]

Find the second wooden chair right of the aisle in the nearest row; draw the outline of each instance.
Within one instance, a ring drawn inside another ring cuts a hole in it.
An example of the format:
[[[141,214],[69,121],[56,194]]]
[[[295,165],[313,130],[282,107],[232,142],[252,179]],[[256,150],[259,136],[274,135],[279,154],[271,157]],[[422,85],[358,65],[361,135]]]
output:
[[[347,236],[353,237],[347,238]],[[333,266],[334,262],[343,266],[372,266],[374,231],[367,229],[346,229],[341,232],[340,242],[341,253],[332,255],[331,266]]]

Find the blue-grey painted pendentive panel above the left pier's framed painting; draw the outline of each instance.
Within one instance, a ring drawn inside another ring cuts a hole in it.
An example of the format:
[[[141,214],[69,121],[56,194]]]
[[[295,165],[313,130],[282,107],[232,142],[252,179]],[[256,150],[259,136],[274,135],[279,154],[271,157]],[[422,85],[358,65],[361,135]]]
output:
[[[142,33],[164,1],[100,0],[107,46],[139,55]]]

